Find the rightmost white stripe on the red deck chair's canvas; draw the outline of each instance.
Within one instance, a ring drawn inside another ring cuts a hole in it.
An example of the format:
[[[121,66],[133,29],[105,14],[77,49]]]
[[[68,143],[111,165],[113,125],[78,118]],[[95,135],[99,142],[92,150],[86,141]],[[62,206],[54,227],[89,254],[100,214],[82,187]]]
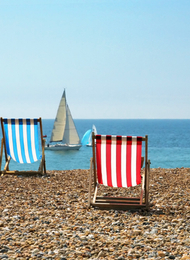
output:
[[[137,137],[132,136],[132,147],[131,147],[131,183],[132,183],[132,186],[137,185],[136,162],[137,162]]]

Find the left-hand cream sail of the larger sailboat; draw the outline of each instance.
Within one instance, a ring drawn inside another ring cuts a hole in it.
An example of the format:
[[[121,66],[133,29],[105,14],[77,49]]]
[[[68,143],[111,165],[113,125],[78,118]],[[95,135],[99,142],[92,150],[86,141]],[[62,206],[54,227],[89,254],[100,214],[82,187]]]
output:
[[[57,115],[54,121],[50,142],[61,142],[63,140],[65,125],[66,125],[66,97],[65,97],[65,90],[64,90],[57,110]]]

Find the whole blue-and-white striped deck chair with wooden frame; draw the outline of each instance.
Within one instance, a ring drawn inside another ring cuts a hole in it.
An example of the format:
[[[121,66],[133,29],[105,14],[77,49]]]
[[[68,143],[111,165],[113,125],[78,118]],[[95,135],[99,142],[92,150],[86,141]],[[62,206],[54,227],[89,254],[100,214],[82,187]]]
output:
[[[41,135],[41,153],[39,150],[39,133]],[[3,138],[1,140],[0,173],[1,174],[43,174],[46,173],[45,140],[43,139],[42,120],[39,119],[3,119],[1,118]],[[3,148],[5,167],[1,171]],[[18,163],[33,163],[41,160],[38,171],[11,171],[10,160]]]

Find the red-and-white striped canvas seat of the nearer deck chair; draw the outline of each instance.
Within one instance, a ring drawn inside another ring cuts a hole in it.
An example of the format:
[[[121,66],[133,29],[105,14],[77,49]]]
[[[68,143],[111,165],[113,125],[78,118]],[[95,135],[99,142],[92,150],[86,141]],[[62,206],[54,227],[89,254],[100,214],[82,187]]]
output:
[[[141,183],[142,137],[96,136],[98,182],[110,187]]]

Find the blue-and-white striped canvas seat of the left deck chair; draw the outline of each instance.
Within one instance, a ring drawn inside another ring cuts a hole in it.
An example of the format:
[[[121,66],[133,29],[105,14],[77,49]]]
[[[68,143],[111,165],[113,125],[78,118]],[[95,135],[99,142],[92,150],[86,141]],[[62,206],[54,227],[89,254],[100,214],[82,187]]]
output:
[[[41,159],[37,119],[4,119],[7,154],[18,163]]]

